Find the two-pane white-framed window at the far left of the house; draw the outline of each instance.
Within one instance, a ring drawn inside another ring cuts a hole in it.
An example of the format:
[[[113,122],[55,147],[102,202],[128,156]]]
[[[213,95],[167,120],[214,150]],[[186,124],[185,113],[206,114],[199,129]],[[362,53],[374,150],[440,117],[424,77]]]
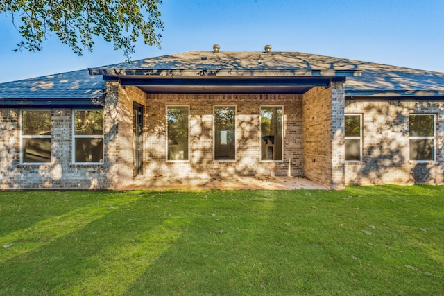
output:
[[[51,162],[51,111],[22,110],[22,162]]]

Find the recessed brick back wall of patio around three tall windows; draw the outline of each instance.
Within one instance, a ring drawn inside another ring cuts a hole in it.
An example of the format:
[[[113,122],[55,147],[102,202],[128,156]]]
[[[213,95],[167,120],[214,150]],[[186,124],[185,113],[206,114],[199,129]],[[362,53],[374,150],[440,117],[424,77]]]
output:
[[[189,162],[167,162],[166,106],[189,105]],[[213,161],[213,107],[237,106],[237,161]],[[261,105],[284,106],[284,161],[259,161]],[[148,94],[144,147],[146,176],[302,176],[302,96],[287,94]]]

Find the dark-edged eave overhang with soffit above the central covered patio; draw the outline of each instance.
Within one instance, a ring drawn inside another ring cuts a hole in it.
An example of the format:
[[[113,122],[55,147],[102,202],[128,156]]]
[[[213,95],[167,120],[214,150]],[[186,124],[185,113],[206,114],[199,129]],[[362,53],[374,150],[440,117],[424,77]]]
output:
[[[303,94],[359,76],[360,70],[306,69],[89,69],[105,81],[146,93]]]

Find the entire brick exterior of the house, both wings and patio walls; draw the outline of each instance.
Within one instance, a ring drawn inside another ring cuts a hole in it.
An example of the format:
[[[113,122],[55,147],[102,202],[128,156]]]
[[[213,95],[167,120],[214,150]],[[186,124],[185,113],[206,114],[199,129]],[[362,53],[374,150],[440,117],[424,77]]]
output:
[[[19,112],[0,109],[0,189],[117,188],[133,180],[133,102],[144,106],[144,175],[292,175],[344,184],[444,184],[444,103],[344,101],[343,83],[290,94],[145,94],[106,82],[104,163],[72,163],[72,110],[51,109],[51,164],[21,164]],[[189,105],[189,162],[167,162],[166,106]],[[237,161],[213,161],[213,107],[237,106]],[[284,107],[284,160],[260,162],[261,105]],[[345,106],[345,107],[344,107]],[[344,167],[343,116],[363,114],[363,160]],[[409,161],[409,114],[436,114],[436,162]],[[313,161],[314,160],[314,161]]]

